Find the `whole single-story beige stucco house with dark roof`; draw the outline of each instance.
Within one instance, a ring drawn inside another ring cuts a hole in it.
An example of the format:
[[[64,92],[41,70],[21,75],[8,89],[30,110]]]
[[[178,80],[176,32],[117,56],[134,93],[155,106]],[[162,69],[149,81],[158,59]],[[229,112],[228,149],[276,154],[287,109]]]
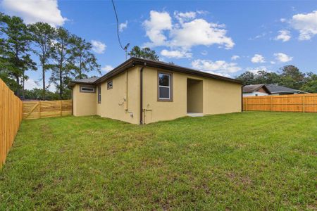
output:
[[[242,110],[236,79],[159,61],[130,58],[102,77],[70,82],[73,114],[133,124]]]

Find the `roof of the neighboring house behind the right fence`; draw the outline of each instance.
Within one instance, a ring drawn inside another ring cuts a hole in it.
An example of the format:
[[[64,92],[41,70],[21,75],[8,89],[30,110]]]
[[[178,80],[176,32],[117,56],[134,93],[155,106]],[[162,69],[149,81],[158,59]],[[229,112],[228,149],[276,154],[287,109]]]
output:
[[[297,89],[291,89],[288,87],[282,87],[278,86],[275,84],[252,84],[252,85],[247,85],[243,87],[243,92],[244,93],[250,93],[254,91],[258,91],[259,89],[266,89],[269,94],[274,94],[274,93],[294,93],[294,92],[300,92],[300,90]]]

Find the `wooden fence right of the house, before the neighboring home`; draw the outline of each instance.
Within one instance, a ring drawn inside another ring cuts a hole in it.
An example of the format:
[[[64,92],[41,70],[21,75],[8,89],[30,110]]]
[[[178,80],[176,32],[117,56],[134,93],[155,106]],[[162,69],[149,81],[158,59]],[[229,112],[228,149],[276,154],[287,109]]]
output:
[[[317,94],[243,97],[243,110],[317,112]]]

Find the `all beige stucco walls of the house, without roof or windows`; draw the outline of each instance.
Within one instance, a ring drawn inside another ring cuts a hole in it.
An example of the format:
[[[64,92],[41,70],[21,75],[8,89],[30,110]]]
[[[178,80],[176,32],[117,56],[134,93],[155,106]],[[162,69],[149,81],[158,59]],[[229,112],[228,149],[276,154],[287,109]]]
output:
[[[101,117],[139,124],[141,68],[137,65],[113,77],[113,89],[107,89],[107,82],[102,83],[101,103],[97,103],[97,87],[95,94],[89,94],[81,93],[79,85],[76,85],[73,93],[74,115],[97,114]],[[143,113],[143,120],[145,124],[173,120],[187,115],[187,79],[202,81],[202,86],[198,86],[194,92],[197,92],[197,96],[200,94],[203,96],[202,101],[199,101],[196,106],[201,108],[202,103],[204,115],[241,111],[241,84],[178,72],[171,72],[171,74],[173,75],[173,101],[158,101],[158,70],[144,68],[143,108],[146,110]],[[202,89],[200,94],[199,89]]]

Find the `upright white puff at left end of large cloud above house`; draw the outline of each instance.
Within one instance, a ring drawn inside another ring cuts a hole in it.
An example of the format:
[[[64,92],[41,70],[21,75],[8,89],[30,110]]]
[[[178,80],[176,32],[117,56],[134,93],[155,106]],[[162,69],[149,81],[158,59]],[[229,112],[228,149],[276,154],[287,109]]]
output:
[[[150,19],[145,20],[143,25],[152,44],[160,46],[164,45],[167,39],[163,31],[172,29],[172,18],[167,12],[151,11]]]

